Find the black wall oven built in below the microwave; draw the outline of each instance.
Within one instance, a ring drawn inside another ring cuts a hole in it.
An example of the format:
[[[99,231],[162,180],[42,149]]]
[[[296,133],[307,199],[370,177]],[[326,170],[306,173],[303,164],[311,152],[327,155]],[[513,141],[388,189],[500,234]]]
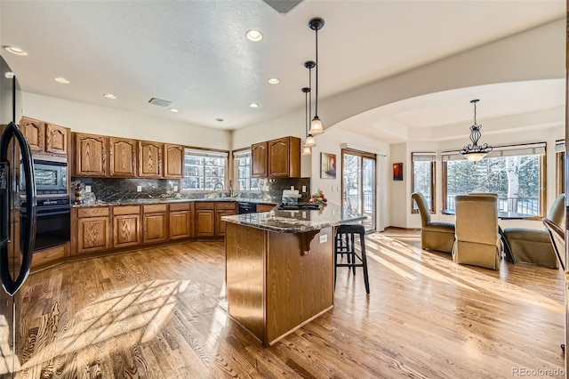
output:
[[[37,198],[34,251],[65,244],[71,237],[69,198]],[[26,225],[26,203],[20,205],[20,221]],[[24,228],[22,228],[23,230]]]

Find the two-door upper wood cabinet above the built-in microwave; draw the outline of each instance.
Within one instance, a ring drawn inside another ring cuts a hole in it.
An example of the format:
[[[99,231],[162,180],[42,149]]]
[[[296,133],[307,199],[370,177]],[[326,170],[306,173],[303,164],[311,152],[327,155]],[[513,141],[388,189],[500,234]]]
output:
[[[20,130],[26,136],[32,153],[68,155],[69,128],[21,117]]]

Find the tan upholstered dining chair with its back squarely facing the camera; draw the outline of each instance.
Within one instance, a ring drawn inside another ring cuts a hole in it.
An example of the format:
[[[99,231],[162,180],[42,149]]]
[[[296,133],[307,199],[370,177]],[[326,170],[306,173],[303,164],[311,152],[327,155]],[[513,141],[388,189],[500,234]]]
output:
[[[456,197],[454,262],[500,269],[501,237],[496,201],[493,196]]]

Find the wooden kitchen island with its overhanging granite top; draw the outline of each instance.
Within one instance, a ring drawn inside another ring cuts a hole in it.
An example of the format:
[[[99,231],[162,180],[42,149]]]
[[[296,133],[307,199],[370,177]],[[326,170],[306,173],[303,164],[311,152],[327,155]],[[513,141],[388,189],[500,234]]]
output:
[[[333,230],[365,216],[328,204],[223,216],[229,316],[265,346],[333,308]]]

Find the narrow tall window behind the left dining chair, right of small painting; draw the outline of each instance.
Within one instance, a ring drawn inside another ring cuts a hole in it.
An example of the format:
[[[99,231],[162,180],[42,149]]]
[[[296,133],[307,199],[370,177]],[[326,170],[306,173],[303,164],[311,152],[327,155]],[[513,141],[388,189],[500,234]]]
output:
[[[427,199],[431,213],[435,213],[435,161],[437,153],[411,153],[413,175],[411,188],[413,192],[421,192]],[[412,212],[419,213],[419,208],[413,200]]]

